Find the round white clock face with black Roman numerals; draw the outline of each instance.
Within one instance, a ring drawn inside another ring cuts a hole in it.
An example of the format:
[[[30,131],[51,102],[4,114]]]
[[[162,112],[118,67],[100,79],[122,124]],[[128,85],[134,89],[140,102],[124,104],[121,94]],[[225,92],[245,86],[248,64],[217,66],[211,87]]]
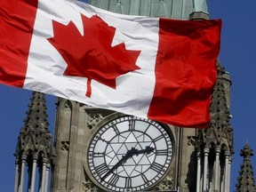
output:
[[[87,158],[101,188],[140,191],[154,186],[167,172],[172,160],[172,139],[161,124],[122,116],[94,134]]]

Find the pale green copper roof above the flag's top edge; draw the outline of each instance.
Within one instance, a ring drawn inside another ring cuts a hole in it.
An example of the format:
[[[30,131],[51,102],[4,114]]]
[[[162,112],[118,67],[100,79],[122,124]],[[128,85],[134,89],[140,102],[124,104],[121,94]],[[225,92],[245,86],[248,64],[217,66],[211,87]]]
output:
[[[188,20],[192,12],[207,11],[206,0],[89,0],[110,12]]]

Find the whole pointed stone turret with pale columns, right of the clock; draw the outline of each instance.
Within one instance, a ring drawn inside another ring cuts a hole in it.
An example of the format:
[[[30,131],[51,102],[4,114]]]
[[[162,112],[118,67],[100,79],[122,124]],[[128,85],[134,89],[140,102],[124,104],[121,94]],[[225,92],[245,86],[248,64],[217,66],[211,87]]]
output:
[[[217,62],[217,81],[212,93],[211,124],[198,131],[197,158],[204,166],[198,166],[197,186],[203,179],[203,191],[229,191],[231,160],[233,154],[233,128],[229,122],[229,92],[231,81],[228,72]],[[201,173],[200,173],[201,172]],[[209,175],[208,175],[209,172]]]

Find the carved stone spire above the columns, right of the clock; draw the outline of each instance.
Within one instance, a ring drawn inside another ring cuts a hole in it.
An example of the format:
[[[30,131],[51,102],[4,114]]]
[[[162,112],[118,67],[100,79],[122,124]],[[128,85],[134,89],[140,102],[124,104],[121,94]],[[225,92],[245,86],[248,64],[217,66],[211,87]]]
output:
[[[230,124],[230,77],[228,72],[217,61],[217,82],[212,93],[211,124],[208,129],[200,130],[200,142],[204,145],[214,144],[215,147],[225,148],[229,153],[233,151],[233,128]]]

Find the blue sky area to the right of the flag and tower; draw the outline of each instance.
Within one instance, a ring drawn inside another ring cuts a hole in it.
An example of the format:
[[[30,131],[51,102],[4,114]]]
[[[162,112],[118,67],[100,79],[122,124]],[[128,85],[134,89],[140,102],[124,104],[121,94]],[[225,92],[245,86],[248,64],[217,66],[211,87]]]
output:
[[[232,162],[231,189],[235,190],[236,178],[243,158],[240,149],[248,141],[256,150],[256,2],[253,0],[208,1],[208,11],[212,19],[223,22],[221,33],[220,62],[230,73],[231,107],[233,116],[235,154]],[[252,156],[254,175],[255,157]]]

